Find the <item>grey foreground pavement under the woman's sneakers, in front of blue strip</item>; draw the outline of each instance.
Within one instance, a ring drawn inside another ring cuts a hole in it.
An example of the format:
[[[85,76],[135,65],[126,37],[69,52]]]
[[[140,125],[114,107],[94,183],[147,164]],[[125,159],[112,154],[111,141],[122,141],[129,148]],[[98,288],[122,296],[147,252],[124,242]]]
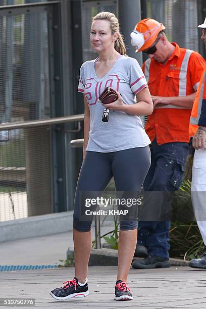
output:
[[[89,268],[89,296],[57,301],[49,291],[74,276],[74,268],[2,272],[1,298],[35,298],[38,308],[206,308],[206,272],[187,267],[156,270],[131,269],[128,285],[132,301],[115,301],[117,267]],[[9,306],[6,306],[9,308]],[[29,308],[23,306],[22,308]]]

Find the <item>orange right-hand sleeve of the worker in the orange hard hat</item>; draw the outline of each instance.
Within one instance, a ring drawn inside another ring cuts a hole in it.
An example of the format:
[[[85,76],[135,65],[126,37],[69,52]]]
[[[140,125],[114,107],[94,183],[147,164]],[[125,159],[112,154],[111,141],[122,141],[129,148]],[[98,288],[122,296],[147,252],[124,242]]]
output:
[[[191,84],[195,92],[197,91],[203,69],[205,68],[205,64],[205,60],[197,52],[193,52],[191,54],[188,67]]]

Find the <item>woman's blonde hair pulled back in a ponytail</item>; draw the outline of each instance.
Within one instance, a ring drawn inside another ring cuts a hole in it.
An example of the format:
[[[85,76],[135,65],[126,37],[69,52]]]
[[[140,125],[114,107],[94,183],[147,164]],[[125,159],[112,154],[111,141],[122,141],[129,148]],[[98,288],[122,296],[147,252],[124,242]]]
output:
[[[110,12],[100,12],[92,18],[92,22],[94,20],[108,20],[110,22],[110,28],[111,28],[112,34],[115,34],[116,32],[118,32],[117,40],[114,42],[115,50],[117,50],[117,52],[120,55],[127,56],[123,36],[120,33],[119,21],[117,17],[115,16],[115,14],[110,13]]]

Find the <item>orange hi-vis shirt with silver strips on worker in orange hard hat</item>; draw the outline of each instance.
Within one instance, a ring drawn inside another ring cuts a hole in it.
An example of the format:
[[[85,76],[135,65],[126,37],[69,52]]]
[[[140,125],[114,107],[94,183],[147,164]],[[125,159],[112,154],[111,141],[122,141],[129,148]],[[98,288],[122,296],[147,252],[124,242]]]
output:
[[[206,62],[190,49],[180,48],[177,43],[174,53],[163,65],[153,59],[143,64],[151,95],[186,96],[197,90]],[[145,125],[151,141],[157,138],[159,145],[169,142],[189,142],[191,108],[165,105],[154,109]]]

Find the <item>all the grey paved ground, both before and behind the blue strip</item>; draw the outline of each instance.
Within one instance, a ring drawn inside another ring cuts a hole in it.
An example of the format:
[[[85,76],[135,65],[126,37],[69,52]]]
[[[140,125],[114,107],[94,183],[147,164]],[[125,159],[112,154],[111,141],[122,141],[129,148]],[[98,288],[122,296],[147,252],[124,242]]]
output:
[[[111,227],[102,228],[102,233]],[[93,238],[94,238],[94,231]],[[49,265],[66,258],[72,232],[0,244],[0,265]],[[89,268],[89,296],[56,301],[49,291],[74,277],[74,268],[8,271],[0,274],[0,298],[35,298],[39,308],[206,308],[206,271],[188,267],[133,270],[128,285],[132,301],[115,301],[117,267]],[[0,304],[1,307],[1,304]],[[17,306],[15,306],[17,307]],[[4,306],[10,308],[10,306]],[[22,308],[29,308],[23,306]]]

